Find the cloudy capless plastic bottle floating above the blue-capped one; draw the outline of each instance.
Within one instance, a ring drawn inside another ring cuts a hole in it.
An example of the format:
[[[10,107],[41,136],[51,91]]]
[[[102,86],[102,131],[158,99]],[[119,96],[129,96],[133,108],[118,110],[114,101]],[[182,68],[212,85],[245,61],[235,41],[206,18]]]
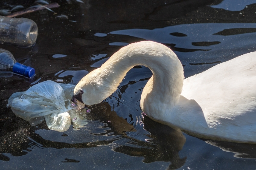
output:
[[[29,47],[36,41],[38,27],[27,18],[8,18],[0,16],[0,42]]]

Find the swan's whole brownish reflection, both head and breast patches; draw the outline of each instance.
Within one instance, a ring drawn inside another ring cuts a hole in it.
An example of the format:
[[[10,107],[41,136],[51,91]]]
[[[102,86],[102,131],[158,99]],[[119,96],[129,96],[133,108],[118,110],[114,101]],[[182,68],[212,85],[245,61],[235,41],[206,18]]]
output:
[[[100,113],[101,110],[103,113]],[[143,162],[145,163],[155,161],[171,162],[169,169],[180,168],[186,162],[186,157],[180,158],[178,155],[186,142],[186,138],[183,136],[181,131],[174,130],[167,125],[154,122],[147,116],[143,115],[143,128],[151,133],[148,135],[151,140],[140,141],[126,135],[127,132],[135,131],[134,126],[130,125],[125,119],[119,117],[115,111],[111,111],[111,106],[108,103],[101,103],[97,105],[97,110],[92,114],[95,113],[97,113],[97,119],[108,123],[108,126],[111,127],[114,134],[119,134],[130,139],[130,141],[125,145],[113,148],[113,151],[125,153],[129,156],[143,156]],[[93,118],[93,116],[91,116],[91,118]]]

